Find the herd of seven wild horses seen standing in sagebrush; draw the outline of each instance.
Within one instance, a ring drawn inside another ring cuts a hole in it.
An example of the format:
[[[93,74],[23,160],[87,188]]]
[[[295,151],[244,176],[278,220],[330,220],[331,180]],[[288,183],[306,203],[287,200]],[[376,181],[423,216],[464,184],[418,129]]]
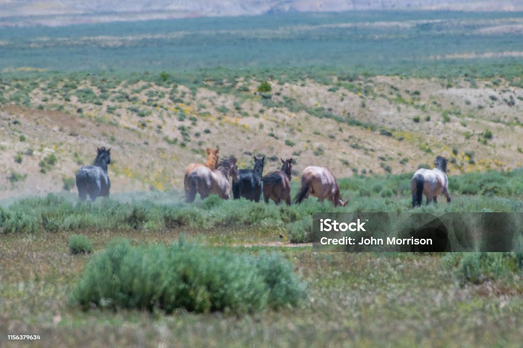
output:
[[[281,159],[281,169],[263,176],[265,157],[254,156],[253,169],[240,169],[237,160],[230,156],[219,160],[220,149],[207,148],[205,164],[191,163],[185,169],[184,190],[185,201],[191,203],[199,194],[201,199],[210,194],[216,194],[222,199],[229,199],[232,189],[234,199],[244,197],[259,202],[263,193],[265,203],[273,200],[276,204],[285,201],[291,204],[291,175],[292,158]],[[76,173],[76,187],[79,199],[85,201],[87,195],[91,201],[98,196],[108,196],[111,181],[107,173],[107,165],[111,163],[111,149],[97,148],[97,155],[92,166],[83,166]],[[447,159],[437,156],[434,169],[418,169],[411,180],[412,206],[422,204],[423,195],[427,198],[427,205],[436,197],[444,194],[450,202],[447,177]],[[230,183],[232,179],[232,185]],[[331,170],[327,167],[309,166],[303,170],[301,188],[294,198],[294,203],[301,203],[308,196],[316,197],[320,202],[325,199],[332,202],[334,207],[345,206],[339,190],[338,182]]]

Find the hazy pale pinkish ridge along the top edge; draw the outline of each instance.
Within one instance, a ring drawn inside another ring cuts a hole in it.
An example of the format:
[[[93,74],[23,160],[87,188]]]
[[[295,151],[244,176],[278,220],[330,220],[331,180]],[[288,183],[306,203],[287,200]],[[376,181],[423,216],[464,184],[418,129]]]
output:
[[[0,26],[388,9],[522,11],[523,0],[0,0]]]

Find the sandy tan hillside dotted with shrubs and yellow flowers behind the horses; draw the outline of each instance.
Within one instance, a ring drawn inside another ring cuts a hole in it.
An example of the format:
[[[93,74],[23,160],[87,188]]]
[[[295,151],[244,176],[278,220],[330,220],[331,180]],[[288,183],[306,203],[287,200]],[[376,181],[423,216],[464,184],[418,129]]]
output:
[[[436,155],[449,175],[521,166],[523,91],[505,80],[344,77],[332,82],[251,77],[182,85],[93,76],[0,86],[0,198],[74,189],[74,174],[111,147],[113,192],[180,189],[206,147],[240,168],[265,155],[337,177],[412,172]],[[263,89],[263,88],[261,88]]]

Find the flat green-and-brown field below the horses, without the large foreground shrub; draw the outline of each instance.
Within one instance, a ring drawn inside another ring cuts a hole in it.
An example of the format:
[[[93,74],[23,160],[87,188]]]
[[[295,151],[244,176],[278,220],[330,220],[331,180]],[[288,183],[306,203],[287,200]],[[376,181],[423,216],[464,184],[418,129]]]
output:
[[[419,211],[520,212],[521,176],[518,170],[456,177],[450,204]],[[410,211],[408,181],[407,175],[342,179],[343,196],[350,203],[337,211]],[[332,211],[332,205],[310,199],[287,207],[217,197],[186,205],[176,196],[116,194],[95,204],[76,203],[71,194],[5,201],[0,208],[3,343],[13,344],[6,342],[7,333],[38,333],[39,346],[79,341],[87,346],[520,343],[523,286],[514,266],[503,266],[513,270],[505,273],[499,267],[495,272],[479,268],[483,276],[463,283],[460,255],[314,253],[311,246],[290,243],[296,233],[292,226],[312,212]],[[72,254],[68,239],[73,234],[92,241],[94,253]],[[170,315],[158,309],[82,311],[72,300],[82,269],[115,237],[128,238],[132,245],[170,245],[181,237],[226,247],[233,254],[276,250],[292,262],[307,284],[307,295],[297,306],[249,315],[183,309]]]

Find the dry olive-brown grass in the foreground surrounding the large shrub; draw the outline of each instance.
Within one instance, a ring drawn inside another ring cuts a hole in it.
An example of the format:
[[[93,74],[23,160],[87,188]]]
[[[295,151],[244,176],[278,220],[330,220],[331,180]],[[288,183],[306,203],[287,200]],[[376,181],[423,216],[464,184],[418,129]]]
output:
[[[246,229],[244,235],[255,233]],[[87,231],[95,249],[116,235],[131,245],[169,245],[177,234]],[[312,253],[309,248],[278,248],[309,283],[308,298],[294,308],[237,317],[125,310],[79,310],[68,301],[71,288],[93,256],[74,257],[68,233],[34,239],[0,236],[5,265],[0,320],[9,334],[22,327],[42,335],[41,344],[86,346],[158,345],[176,340],[191,346],[291,346],[325,342],[342,346],[518,346],[523,318],[520,282],[494,281],[459,286],[438,255]],[[209,236],[202,236],[207,240]],[[189,237],[187,237],[187,240]],[[255,257],[264,247],[234,247]],[[274,248],[270,248],[274,250]],[[28,256],[29,255],[29,256]],[[7,258],[9,262],[7,262]],[[28,260],[30,262],[28,262]],[[35,268],[38,264],[38,268]],[[406,326],[412,322],[413,326]],[[415,324],[414,324],[415,323]],[[2,326],[0,333],[7,334]],[[159,335],[158,330],[163,334]]]

